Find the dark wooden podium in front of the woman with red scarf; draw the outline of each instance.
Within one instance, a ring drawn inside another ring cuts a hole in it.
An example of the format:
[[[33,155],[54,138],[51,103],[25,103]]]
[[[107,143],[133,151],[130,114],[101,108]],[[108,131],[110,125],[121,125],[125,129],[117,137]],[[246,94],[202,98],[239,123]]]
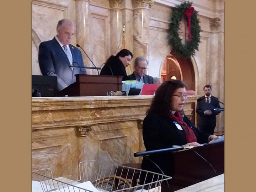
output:
[[[224,173],[224,142],[193,148],[215,169],[217,175]],[[210,165],[191,150],[174,152],[175,174],[170,180],[170,191],[176,191],[195,183],[215,177]]]

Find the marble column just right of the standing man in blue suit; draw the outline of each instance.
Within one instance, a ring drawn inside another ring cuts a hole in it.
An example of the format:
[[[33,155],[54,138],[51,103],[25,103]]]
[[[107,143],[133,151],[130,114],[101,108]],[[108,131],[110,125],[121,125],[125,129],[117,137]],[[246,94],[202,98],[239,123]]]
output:
[[[76,0],[76,43],[79,44],[91,58],[90,49],[90,1],[89,0]],[[81,48],[79,48],[81,50]],[[85,66],[93,66],[91,61],[81,50]],[[92,74],[91,69],[86,69],[87,74]]]

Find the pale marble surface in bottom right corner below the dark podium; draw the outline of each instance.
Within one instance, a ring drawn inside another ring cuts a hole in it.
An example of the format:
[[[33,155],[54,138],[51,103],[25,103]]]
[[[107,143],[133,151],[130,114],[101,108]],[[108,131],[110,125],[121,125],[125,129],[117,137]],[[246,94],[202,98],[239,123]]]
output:
[[[212,177],[175,192],[224,192],[224,174]]]

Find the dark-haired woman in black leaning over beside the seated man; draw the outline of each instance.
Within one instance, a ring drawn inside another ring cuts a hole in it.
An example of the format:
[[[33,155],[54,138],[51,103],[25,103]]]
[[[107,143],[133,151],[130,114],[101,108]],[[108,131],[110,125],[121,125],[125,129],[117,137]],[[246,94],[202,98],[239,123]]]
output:
[[[111,55],[105,66],[101,69],[101,75],[122,75],[123,80],[129,80],[126,74],[126,67],[130,64],[133,55],[128,49],[122,49],[116,56]]]

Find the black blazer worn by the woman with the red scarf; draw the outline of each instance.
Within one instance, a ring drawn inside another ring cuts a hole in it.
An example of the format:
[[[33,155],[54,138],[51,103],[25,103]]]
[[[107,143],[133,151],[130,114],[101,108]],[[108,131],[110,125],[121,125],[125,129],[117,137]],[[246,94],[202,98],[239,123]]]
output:
[[[207,143],[209,134],[199,131],[185,115],[182,117],[184,122],[194,131],[197,142]],[[185,145],[187,143],[184,131],[177,129],[174,120],[169,116],[150,112],[146,115],[142,127],[146,151],[171,148],[173,145]],[[148,157],[164,171],[164,174],[173,176],[174,157],[172,152],[156,153]],[[142,169],[161,173],[155,165],[145,158],[142,161]]]

